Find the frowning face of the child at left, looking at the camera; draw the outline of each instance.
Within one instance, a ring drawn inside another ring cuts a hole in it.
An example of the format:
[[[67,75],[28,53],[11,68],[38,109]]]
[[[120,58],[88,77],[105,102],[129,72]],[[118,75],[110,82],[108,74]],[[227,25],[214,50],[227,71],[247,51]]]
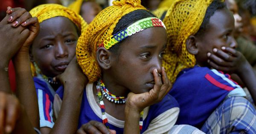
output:
[[[66,17],[54,17],[40,23],[40,32],[31,49],[31,60],[47,77],[64,72],[76,54],[78,34]]]

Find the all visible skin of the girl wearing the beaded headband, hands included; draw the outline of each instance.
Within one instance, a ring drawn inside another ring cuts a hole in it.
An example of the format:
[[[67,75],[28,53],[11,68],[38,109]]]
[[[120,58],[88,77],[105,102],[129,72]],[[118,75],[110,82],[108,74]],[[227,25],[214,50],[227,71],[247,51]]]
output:
[[[103,97],[105,111],[116,119],[125,120],[124,133],[139,134],[140,111],[162,100],[171,89],[171,83],[162,67],[166,31],[159,27],[145,29],[132,35],[121,45],[118,56],[105,48],[97,50],[97,61],[102,68],[105,86],[112,94],[128,97],[125,104],[118,105]],[[98,101],[96,93],[94,84],[93,94]],[[99,124],[102,123],[97,125]],[[82,126],[79,131],[83,129],[89,134],[110,133],[105,126],[105,131],[97,128],[99,127]]]

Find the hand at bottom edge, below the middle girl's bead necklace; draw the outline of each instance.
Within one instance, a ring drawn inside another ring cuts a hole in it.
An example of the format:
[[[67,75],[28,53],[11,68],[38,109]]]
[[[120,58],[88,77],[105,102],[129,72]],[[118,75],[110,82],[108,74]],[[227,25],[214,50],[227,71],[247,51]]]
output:
[[[108,129],[103,123],[92,120],[83,124],[76,134],[116,134],[116,131]]]

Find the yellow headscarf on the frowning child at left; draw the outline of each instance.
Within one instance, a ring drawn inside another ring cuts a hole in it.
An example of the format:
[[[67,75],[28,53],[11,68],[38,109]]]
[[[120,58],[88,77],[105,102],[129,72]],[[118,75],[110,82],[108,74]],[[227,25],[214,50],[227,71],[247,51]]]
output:
[[[83,18],[76,14],[75,11],[68,9],[65,6],[61,6],[58,4],[43,4],[36,6],[31,11],[29,11],[32,17],[37,17],[39,23],[43,22],[44,20],[48,20],[53,17],[67,17],[70,19],[78,29],[83,32],[87,26],[87,23],[83,20]],[[32,74],[35,76],[35,66],[31,63]]]

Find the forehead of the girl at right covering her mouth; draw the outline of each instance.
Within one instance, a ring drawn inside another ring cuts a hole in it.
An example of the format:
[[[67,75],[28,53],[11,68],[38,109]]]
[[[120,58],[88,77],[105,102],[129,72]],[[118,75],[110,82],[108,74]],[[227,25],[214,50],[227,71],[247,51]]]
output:
[[[224,31],[233,29],[234,17],[233,14],[226,8],[215,11],[210,17],[208,30]]]

